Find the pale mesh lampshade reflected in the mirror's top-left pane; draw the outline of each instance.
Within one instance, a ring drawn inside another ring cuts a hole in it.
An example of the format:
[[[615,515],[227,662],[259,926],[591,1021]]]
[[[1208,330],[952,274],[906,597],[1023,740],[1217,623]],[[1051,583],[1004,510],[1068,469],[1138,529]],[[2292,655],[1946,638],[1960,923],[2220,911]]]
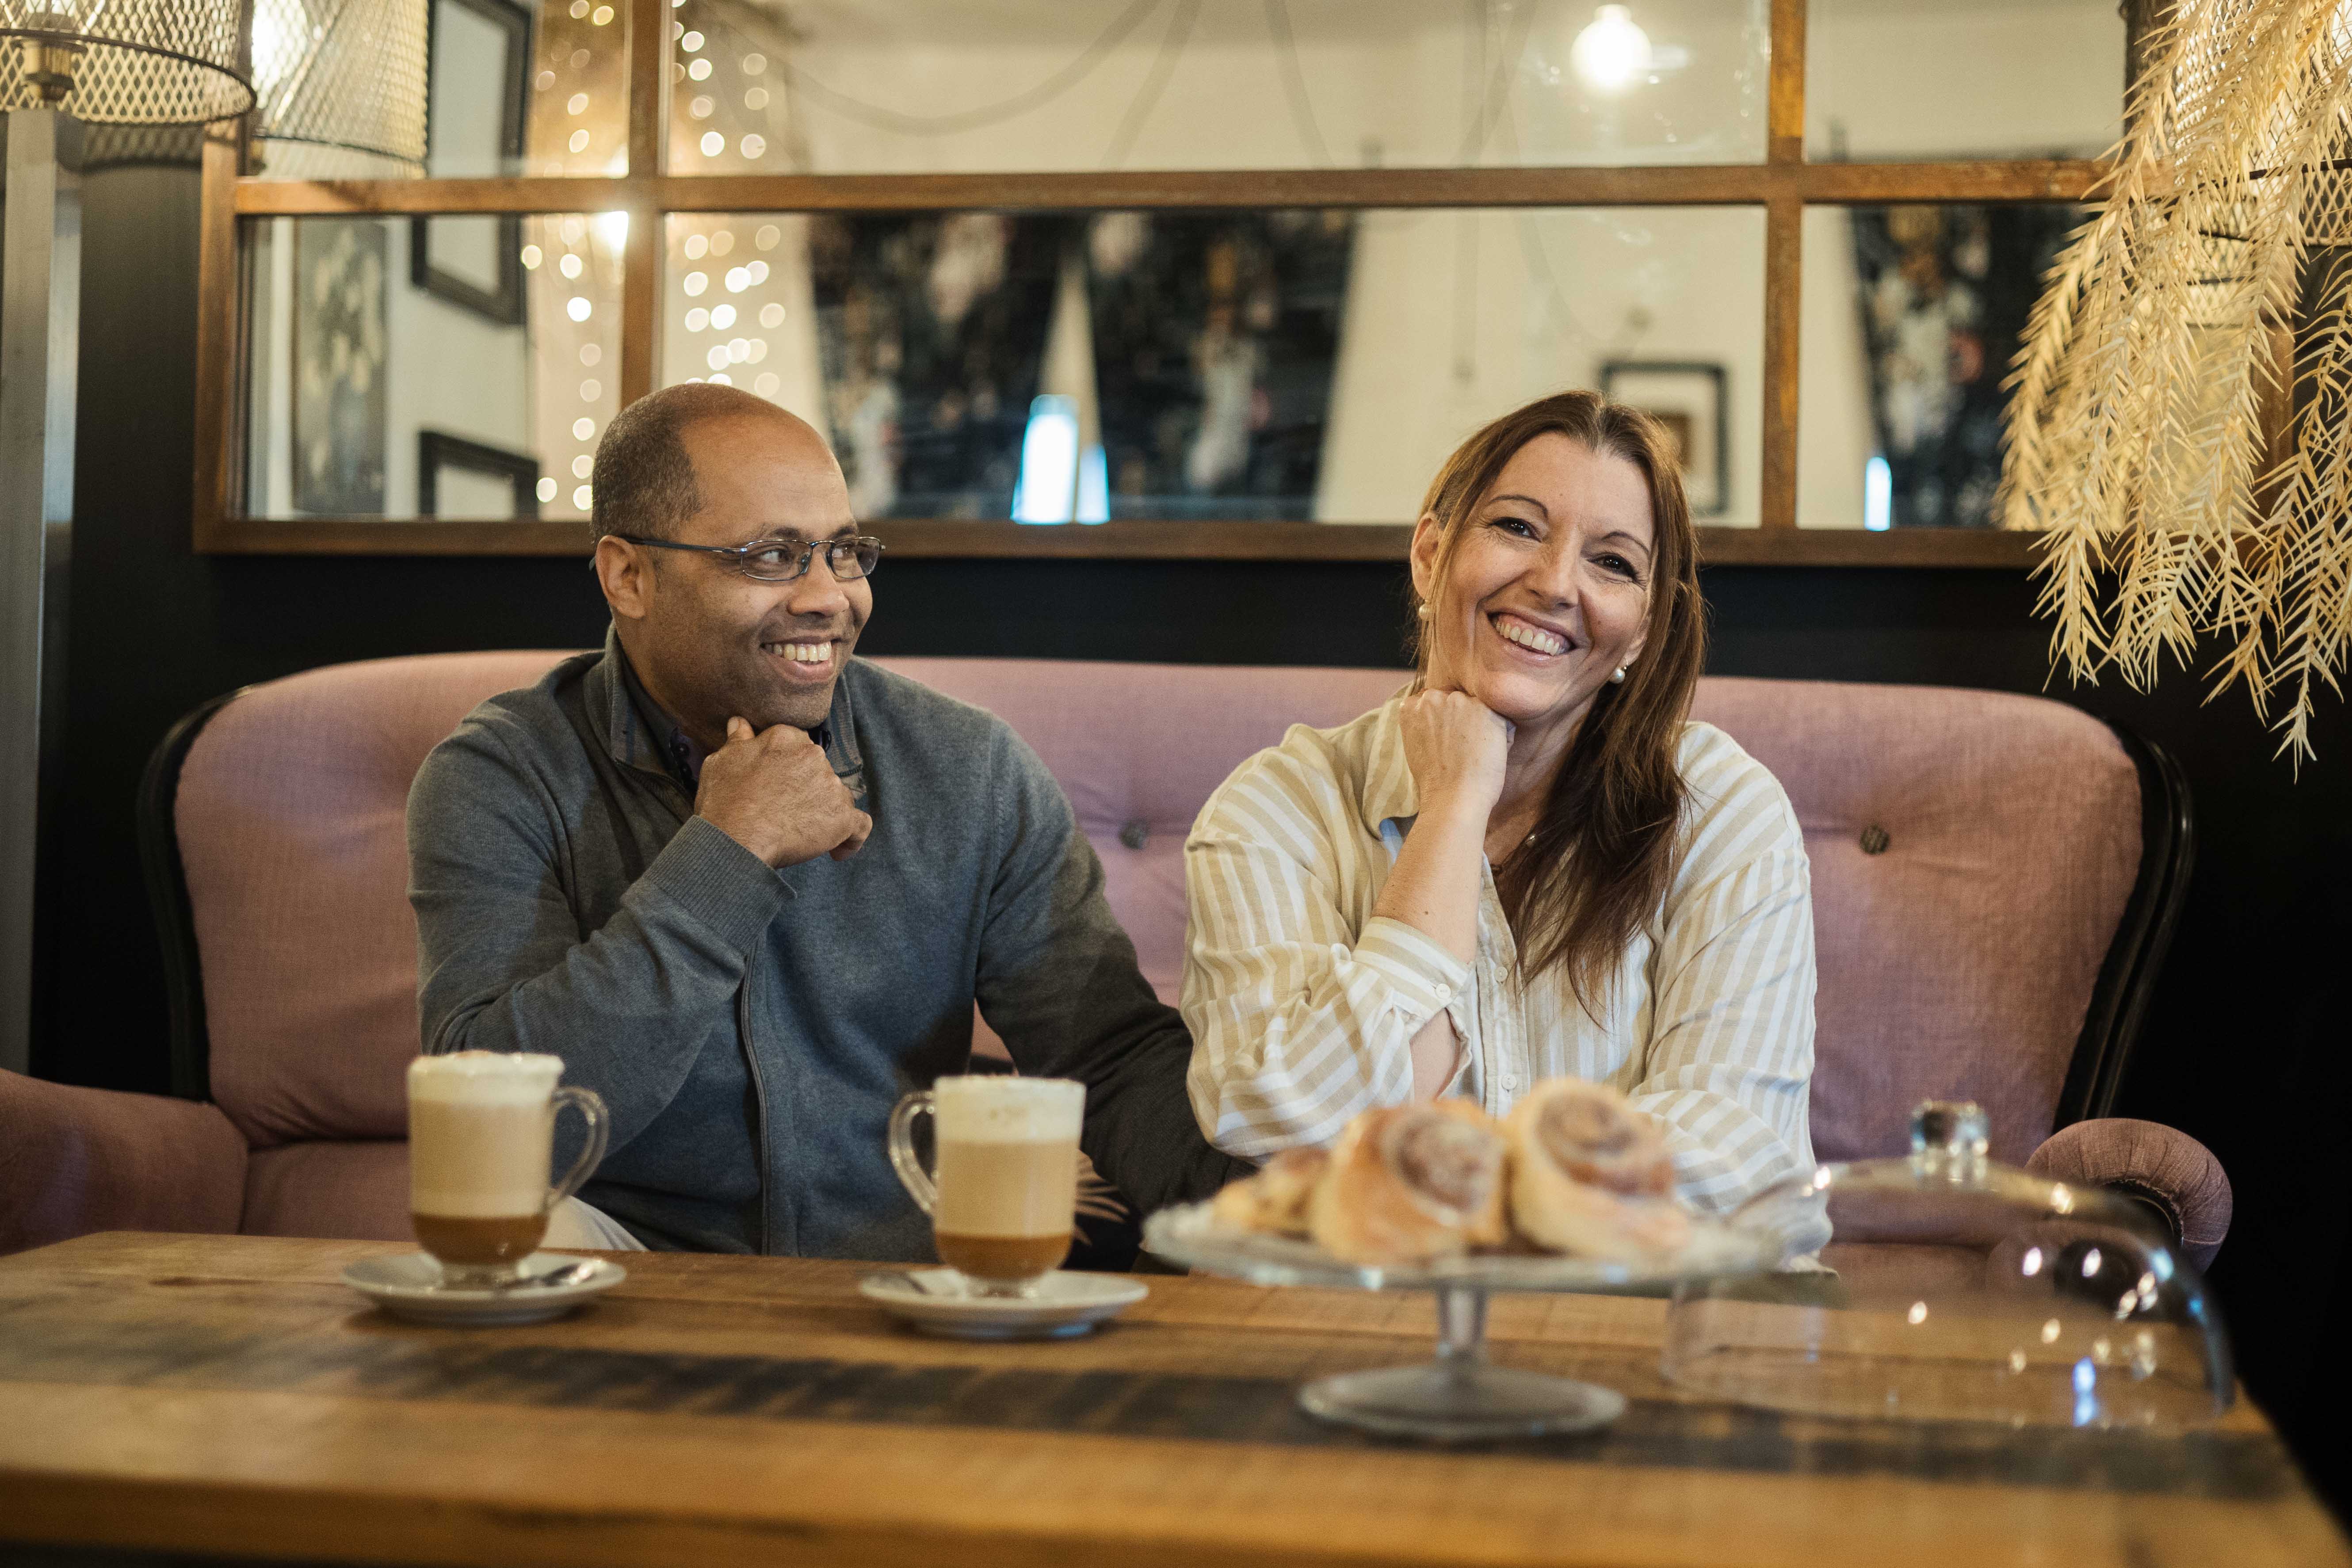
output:
[[[7,2],[7,0],[0,0]],[[278,179],[426,167],[428,0],[252,0],[254,155]]]

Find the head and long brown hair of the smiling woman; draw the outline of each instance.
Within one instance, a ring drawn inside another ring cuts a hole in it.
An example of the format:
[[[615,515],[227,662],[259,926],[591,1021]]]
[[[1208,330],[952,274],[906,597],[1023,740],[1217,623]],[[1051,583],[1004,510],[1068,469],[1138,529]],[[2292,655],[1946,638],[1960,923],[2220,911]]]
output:
[[[1414,529],[1423,693],[1402,712],[1406,757],[1428,750],[1423,710],[1444,693],[1505,719],[1508,764],[1475,795],[1482,846],[1529,969],[1564,966],[1588,1004],[1665,891],[1682,809],[1675,745],[1705,628],[1672,454],[1646,414],[1543,397],[1446,461]],[[1557,875],[1571,858],[1583,875]]]

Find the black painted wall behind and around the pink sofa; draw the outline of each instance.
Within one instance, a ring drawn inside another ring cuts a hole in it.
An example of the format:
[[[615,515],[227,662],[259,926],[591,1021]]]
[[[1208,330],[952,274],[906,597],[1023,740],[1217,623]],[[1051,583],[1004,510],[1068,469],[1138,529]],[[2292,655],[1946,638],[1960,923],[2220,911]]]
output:
[[[186,169],[92,176],[68,788],[45,827],[54,964],[38,1067],[115,1088],[165,1081],[132,797],[174,717],[320,663],[602,635],[569,559],[195,557],[193,235]],[[1399,661],[1390,567],[910,559],[875,588],[875,654]],[[2046,628],[2013,571],[1717,569],[1708,595],[1715,672],[2044,686]],[[2333,1490],[2343,1469],[2310,1439],[2343,1382],[2352,717],[2326,705],[2321,757],[2298,780],[2246,701],[2201,705],[2192,672],[2154,696],[2058,696],[2150,736],[2194,785],[2197,877],[2122,1112],[2187,1128],[2227,1164],[2237,1227],[2213,1281],[2251,1387]]]

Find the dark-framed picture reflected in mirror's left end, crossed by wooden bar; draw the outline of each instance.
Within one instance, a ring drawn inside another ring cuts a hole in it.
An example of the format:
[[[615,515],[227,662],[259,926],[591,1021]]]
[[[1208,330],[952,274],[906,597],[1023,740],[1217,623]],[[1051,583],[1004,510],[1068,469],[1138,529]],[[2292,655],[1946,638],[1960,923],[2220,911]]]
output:
[[[532,12],[515,0],[433,0],[426,172],[506,174],[522,158]],[[522,219],[433,216],[409,226],[409,282],[494,322],[522,324]]]

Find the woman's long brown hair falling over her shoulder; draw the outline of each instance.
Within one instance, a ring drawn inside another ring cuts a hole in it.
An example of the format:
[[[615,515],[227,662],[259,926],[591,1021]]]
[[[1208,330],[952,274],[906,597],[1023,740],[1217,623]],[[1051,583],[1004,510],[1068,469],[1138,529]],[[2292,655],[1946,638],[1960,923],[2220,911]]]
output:
[[[1675,752],[1708,656],[1708,618],[1675,437],[1649,414],[1599,393],[1541,397],[1454,449],[1421,503],[1442,529],[1430,599],[1444,597],[1470,515],[1519,447],[1538,435],[1564,435],[1639,468],[1656,529],[1642,658],[1623,684],[1604,684],[1592,698],[1536,832],[1496,867],[1496,893],[1519,938],[1519,973],[1566,969],[1569,987],[1597,1020],[1618,959],[1675,875],[1684,802]],[[1428,675],[1425,642],[1416,656]]]

